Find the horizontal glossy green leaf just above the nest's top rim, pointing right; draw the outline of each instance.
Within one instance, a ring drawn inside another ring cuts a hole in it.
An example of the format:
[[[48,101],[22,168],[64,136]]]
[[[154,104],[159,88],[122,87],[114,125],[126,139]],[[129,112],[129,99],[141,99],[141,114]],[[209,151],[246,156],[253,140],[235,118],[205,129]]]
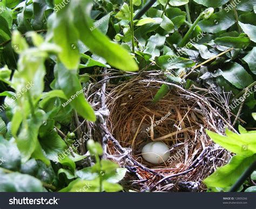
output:
[[[179,68],[191,68],[196,63],[190,59],[178,57],[176,55],[164,55],[156,57],[156,64],[163,70],[171,70]]]

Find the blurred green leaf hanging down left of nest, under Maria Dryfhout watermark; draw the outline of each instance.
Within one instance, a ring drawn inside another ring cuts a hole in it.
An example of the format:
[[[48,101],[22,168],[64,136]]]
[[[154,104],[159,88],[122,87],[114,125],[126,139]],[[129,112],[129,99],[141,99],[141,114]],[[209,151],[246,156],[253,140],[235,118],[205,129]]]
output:
[[[79,82],[77,71],[68,70],[62,63],[57,63],[55,73],[58,85],[65,93],[66,97],[71,100],[70,104],[77,112],[87,120],[95,121],[96,116],[92,107],[86,102]],[[69,84],[69,85],[66,85]],[[82,93],[80,93],[82,91]],[[74,98],[75,97],[75,98]],[[74,99],[72,99],[74,98]],[[65,108],[65,107],[64,107]]]

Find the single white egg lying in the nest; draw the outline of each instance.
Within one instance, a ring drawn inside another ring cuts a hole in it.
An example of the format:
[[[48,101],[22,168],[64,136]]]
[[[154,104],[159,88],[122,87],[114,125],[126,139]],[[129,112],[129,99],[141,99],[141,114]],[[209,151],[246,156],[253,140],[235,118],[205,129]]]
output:
[[[146,144],[142,149],[142,157],[153,164],[164,163],[170,156],[169,147],[160,141]]]

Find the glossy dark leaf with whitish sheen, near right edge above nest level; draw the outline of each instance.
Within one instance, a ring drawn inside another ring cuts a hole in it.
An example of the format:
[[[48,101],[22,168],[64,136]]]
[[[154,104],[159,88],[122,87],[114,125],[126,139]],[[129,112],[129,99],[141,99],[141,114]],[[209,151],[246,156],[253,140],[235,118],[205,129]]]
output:
[[[238,89],[244,89],[253,83],[252,76],[238,63],[226,65],[222,76]]]

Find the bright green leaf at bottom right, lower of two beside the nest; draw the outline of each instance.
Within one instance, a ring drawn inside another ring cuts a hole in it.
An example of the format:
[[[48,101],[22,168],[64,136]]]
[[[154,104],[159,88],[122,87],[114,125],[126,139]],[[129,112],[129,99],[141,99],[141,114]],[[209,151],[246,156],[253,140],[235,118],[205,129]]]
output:
[[[203,182],[207,187],[231,187],[241,176],[242,173],[256,160],[256,156],[233,156],[230,163],[220,167],[210,177]]]

